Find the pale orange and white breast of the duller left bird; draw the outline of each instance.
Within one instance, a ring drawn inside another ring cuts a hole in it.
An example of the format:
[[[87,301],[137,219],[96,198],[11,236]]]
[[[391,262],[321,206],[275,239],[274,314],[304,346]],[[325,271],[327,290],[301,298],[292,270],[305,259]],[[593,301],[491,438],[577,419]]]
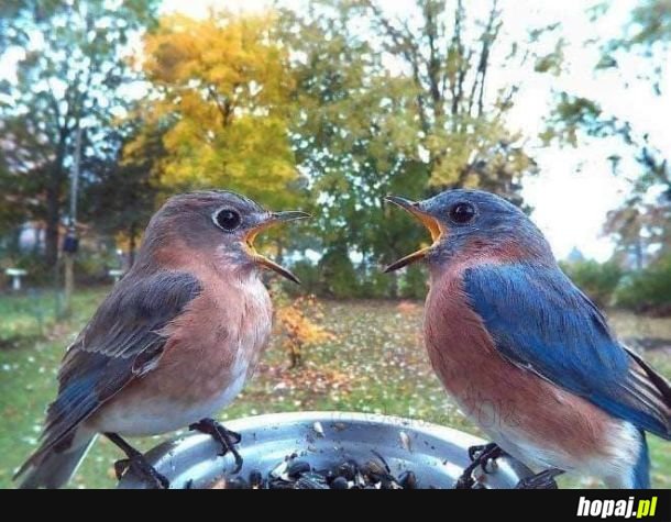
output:
[[[163,433],[216,414],[240,392],[270,336],[270,296],[256,277],[211,278],[202,288],[165,330],[156,367],[105,404],[98,426]]]

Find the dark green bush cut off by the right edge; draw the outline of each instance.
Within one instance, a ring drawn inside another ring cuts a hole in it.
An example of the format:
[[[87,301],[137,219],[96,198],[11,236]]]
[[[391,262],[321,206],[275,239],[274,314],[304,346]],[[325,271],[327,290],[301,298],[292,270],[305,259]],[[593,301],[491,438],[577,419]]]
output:
[[[671,254],[626,278],[616,301],[637,312],[671,315]]]

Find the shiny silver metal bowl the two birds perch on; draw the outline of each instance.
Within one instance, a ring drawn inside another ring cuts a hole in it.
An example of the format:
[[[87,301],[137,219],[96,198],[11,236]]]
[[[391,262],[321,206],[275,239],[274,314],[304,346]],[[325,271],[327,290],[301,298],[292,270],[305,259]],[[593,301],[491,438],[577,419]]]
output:
[[[447,489],[454,486],[469,465],[466,449],[485,441],[466,433],[424,421],[366,413],[299,412],[250,417],[226,423],[242,435],[238,446],[244,459],[240,476],[253,469],[266,475],[285,457],[297,454],[315,468],[326,469],[345,459],[365,462],[381,454],[394,475],[413,470],[419,488]],[[148,462],[170,481],[170,488],[208,488],[235,467],[231,454],[217,455],[218,444],[202,434],[189,434],[163,443],[146,454]],[[510,457],[496,460],[491,474],[480,474],[486,488],[512,488],[532,475]],[[128,473],[122,489],[146,485]]]

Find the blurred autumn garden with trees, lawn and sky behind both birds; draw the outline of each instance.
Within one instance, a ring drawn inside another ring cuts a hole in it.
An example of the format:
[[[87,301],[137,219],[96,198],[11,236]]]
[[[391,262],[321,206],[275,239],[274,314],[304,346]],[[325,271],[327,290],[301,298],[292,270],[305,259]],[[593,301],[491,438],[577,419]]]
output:
[[[428,242],[382,198],[454,187],[527,211],[671,377],[670,44],[671,0],[2,2],[0,487],[148,218],[198,188],[315,215],[260,238],[304,285],[268,281],[273,345],[222,419],[342,409],[475,431],[426,359],[424,269],[380,271]],[[74,486],[113,485],[118,457],[98,444]]]

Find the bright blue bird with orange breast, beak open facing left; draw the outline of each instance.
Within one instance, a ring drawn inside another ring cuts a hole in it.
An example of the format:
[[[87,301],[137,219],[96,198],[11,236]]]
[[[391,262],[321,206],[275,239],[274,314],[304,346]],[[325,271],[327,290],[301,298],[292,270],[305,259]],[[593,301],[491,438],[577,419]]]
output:
[[[428,266],[429,359],[493,441],[471,448],[474,463],[457,486],[472,487],[476,464],[486,470],[487,459],[508,454],[538,471],[520,488],[557,487],[562,473],[649,488],[646,433],[671,438],[669,381],[618,341],[525,212],[482,190],[386,200],[432,242],[385,271]]]

